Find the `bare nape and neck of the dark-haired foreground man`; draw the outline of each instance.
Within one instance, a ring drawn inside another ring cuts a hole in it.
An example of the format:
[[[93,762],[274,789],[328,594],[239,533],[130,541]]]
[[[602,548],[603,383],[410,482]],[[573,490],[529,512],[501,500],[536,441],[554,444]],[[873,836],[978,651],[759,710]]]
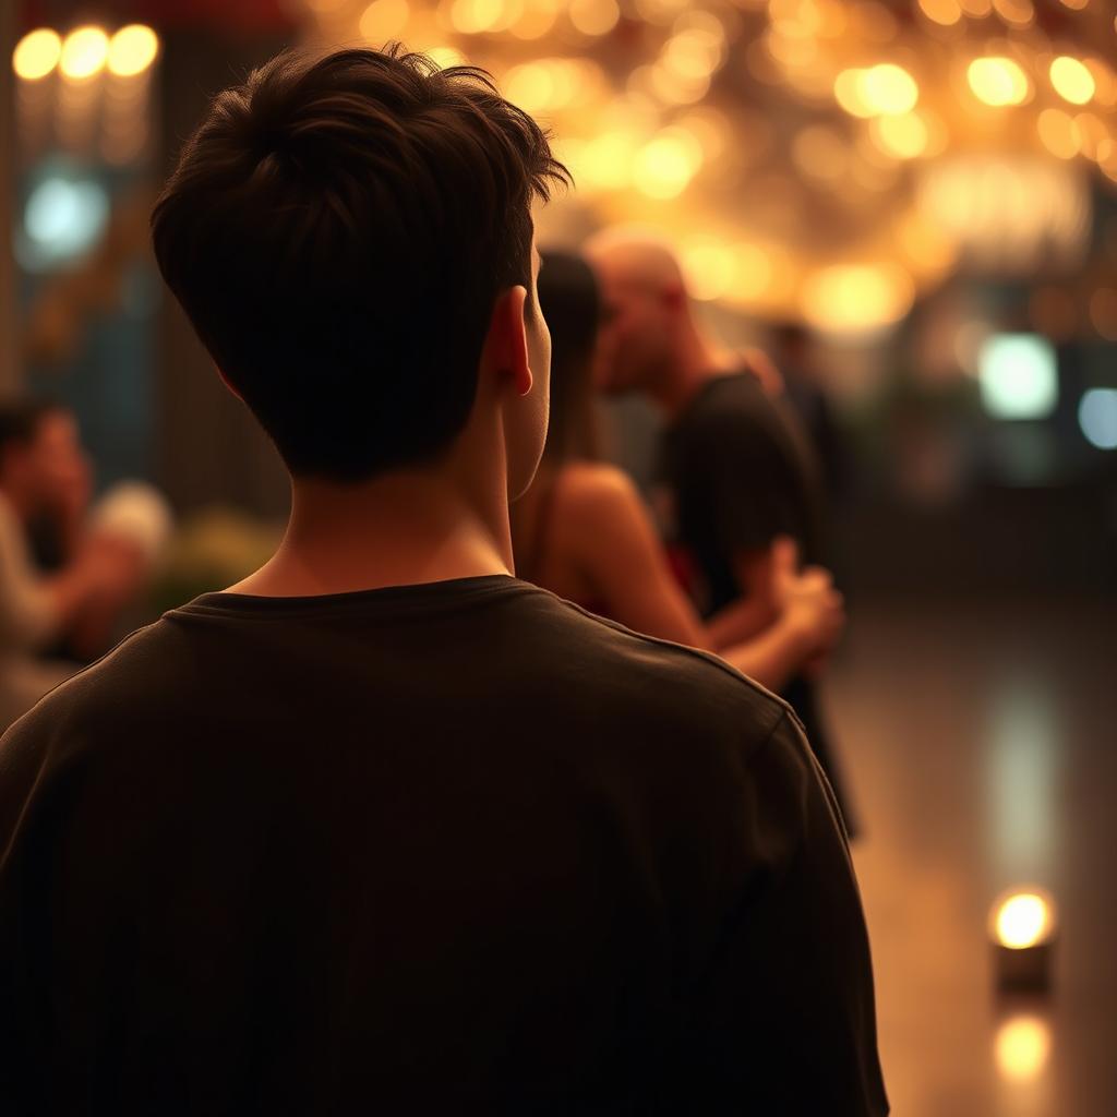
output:
[[[317,596],[508,574],[512,562],[503,493],[470,496],[437,471],[295,480],[278,550],[228,592]]]

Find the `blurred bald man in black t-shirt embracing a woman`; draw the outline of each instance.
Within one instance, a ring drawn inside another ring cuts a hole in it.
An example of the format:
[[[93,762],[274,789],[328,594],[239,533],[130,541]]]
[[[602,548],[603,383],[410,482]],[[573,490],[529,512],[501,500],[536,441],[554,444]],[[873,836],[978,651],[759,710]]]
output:
[[[703,332],[666,241],[643,229],[608,229],[585,254],[604,303],[598,385],[610,395],[645,394],[667,421],[657,504],[675,566],[705,617],[733,615],[736,626],[744,619],[758,634],[780,613],[775,541],[791,536],[804,562],[822,557],[818,462],[779,398],[766,357],[726,354]],[[712,628],[717,624],[715,618]],[[804,665],[783,697],[802,719],[852,830],[812,681],[819,669]]]

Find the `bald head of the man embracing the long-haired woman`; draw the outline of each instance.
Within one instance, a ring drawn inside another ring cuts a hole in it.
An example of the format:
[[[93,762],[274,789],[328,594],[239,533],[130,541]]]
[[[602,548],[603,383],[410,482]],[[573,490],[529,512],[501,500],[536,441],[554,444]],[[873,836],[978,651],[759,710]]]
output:
[[[605,229],[586,241],[604,304],[596,380],[608,394],[650,391],[671,375],[680,332],[693,328],[686,280],[653,231]]]

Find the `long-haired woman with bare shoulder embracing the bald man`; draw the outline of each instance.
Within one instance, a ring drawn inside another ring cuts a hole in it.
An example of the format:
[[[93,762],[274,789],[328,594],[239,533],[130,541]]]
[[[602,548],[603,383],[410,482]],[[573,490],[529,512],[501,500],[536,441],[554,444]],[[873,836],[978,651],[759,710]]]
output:
[[[780,540],[772,622],[757,632],[750,613],[729,605],[707,630],[671,573],[636,486],[599,460],[592,370],[601,302],[590,266],[545,252],[540,306],[551,331],[550,429],[535,481],[512,506],[517,574],[638,632],[717,651],[779,690],[841,632],[841,594],[829,574],[800,572],[794,541]]]

